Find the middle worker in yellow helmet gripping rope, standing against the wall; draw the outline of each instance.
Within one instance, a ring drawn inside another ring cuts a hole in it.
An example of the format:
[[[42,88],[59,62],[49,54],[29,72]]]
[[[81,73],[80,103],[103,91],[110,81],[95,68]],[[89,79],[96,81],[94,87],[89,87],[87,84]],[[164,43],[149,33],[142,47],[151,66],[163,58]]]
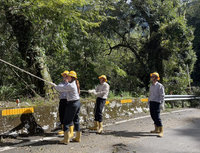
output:
[[[97,133],[102,133],[103,131],[103,115],[102,111],[105,106],[106,99],[108,98],[110,86],[107,83],[107,77],[105,75],[99,76],[100,84],[96,89],[88,90],[89,93],[94,94],[96,99],[96,104],[94,108],[94,126],[91,130],[97,130]]]

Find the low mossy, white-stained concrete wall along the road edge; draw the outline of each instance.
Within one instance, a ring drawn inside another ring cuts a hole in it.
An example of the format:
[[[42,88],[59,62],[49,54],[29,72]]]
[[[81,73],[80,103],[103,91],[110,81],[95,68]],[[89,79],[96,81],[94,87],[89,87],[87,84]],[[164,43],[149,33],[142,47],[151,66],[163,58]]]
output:
[[[95,99],[81,100],[80,123],[82,128],[88,128],[92,125],[94,115]],[[14,108],[9,108],[14,109]],[[24,109],[24,108],[22,108]],[[21,109],[20,109],[21,110]],[[58,103],[53,106],[37,106],[34,107],[32,115],[23,113],[5,115],[6,111],[1,110],[0,116],[0,133],[8,132],[16,127],[20,129],[21,133],[27,133],[27,129],[42,127],[45,132],[50,132],[58,127]],[[15,112],[15,111],[14,111]],[[18,108],[18,112],[19,108]],[[22,112],[22,111],[21,111]],[[103,118],[104,122],[114,122],[119,119],[128,119],[134,117],[136,114],[148,112],[146,103],[141,102],[140,99],[121,99],[111,100],[106,102],[104,108]],[[30,119],[31,118],[31,119]],[[35,124],[28,125],[34,121]],[[35,126],[35,127],[30,127]],[[18,131],[19,132],[19,131]]]

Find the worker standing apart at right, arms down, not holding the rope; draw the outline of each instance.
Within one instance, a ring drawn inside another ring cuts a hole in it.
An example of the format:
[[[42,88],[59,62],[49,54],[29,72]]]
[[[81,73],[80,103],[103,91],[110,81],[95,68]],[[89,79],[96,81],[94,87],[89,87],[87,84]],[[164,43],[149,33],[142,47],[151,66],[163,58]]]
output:
[[[160,76],[157,72],[151,73],[150,77],[152,85],[150,87],[148,105],[150,107],[151,118],[155,125],[155,130],[151,131],[151,133],[158,133],[159,137],[163,137],[163,125],[160,118],[160,109],[164,107],[164,86],[158,82]]]

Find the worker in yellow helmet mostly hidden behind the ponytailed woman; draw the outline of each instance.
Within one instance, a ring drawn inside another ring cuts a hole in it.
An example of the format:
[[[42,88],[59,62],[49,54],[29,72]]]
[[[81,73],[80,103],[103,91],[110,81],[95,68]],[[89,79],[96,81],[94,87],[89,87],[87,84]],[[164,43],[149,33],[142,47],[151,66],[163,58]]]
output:
[[[69,71],[64,71],[63,73],[61,73],[62,77],[63,77],[63,82],[59,83],[58,86],[63,87],[66,86],[68,84],[68,79],[67,76],[69,74]],[[64,120],[64,115],[65,115],[65,107],[67,104],[67,92],[59,92],[60,96],[60,102],[59,102],[59,107],[58,107],[58,112],[59,112],[59,119],[60,119],[60,123],[61,123],[61,131],[58,132],[59,135],[63,135],[64,134],[64,126],[63,126],[63,120]],[[74,126],[70,126],[70,137],[73,137],[74,135]]]

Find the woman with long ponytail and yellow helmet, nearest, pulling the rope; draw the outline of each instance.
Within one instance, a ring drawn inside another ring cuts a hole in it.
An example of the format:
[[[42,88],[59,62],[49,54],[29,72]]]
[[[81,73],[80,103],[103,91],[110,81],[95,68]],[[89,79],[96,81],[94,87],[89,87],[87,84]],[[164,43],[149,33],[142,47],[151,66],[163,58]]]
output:
[[[70,142],[69,127],[74,124],[74,130],[76,131],[76,137],[72,139],[74,142],[81,141],[81,131],[79,124],[80,113],[80,85],[77,80],[77,74],[75,71],[70,71],[68,76],[68,84],[66,86],[58,86],[51,83],[59,92],[67,92],[67,105],[65,106],[65,115],[63,119],[64,124],[64,139],[61,143],[68,144]]]

